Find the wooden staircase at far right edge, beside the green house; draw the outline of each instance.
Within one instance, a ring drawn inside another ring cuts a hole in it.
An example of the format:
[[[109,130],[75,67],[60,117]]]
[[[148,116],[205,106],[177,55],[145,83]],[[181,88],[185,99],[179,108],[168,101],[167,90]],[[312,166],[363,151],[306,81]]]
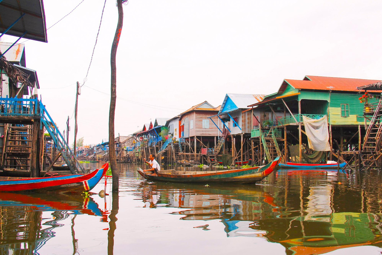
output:
[[[376,107],[373,118],[370,121],[364,138],[364,144],[360,152],[363,169],[378,167],[381,156],[381,133],[382,133],[382,109],[381,100]]]

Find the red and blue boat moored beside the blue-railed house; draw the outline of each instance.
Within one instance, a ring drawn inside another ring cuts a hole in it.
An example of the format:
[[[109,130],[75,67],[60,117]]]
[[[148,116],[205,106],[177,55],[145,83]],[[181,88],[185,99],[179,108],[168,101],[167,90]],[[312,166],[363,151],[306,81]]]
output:
[[[108,163],[89,174],[24,178],[0,177],[0,192],[36,191],[81,193],[95,187],[108,169]]]

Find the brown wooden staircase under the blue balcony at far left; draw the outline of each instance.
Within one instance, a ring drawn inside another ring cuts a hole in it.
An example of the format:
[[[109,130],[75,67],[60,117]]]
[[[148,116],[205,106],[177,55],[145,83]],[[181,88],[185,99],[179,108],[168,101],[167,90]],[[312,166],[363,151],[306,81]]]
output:
[[[3,153],[3,167],[30,170],[33,128],[31,125],[8,125]]]

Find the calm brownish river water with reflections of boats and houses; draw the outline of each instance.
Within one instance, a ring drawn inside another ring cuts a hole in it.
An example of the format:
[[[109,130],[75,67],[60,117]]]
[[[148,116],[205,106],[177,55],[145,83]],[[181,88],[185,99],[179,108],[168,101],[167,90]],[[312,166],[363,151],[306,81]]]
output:
[[[118,166],[119,196],[111,179],[87,197],[0,193],[0,254],[382,254],[377,170],[192,185],[147,182],[136,166]]]

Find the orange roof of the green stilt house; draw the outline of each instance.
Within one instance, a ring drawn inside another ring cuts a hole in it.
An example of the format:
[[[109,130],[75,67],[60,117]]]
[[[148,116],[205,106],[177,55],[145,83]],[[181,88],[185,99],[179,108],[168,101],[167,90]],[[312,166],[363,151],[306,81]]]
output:
[[[357,87],[373,84],[381,80],[364,80],[352,78],[336,78],[322,76],[305,76],[300,80],[284,80],[279,92],[283,92],[286,84],[295,89],[303,90],[332,90],[332,91],[358,91]]]

